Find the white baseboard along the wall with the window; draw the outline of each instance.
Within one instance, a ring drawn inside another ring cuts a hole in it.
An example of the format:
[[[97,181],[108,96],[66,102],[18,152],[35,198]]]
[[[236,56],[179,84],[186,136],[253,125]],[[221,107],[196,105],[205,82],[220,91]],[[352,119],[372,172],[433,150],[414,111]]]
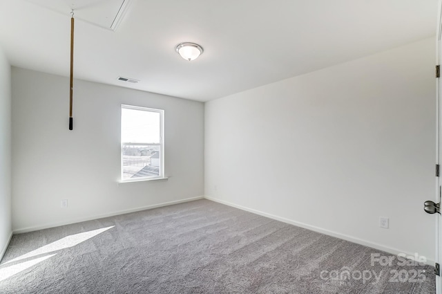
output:
[[[69,220],[69,221],[61,221],[61,222],[57,222],[57,223],[45,223],[45,224],[39,225],[39,226],[32,226],[32,227],[28,227],[28,228],[19,228],[19,229],[14,230],[13,233],[14,234],[21,234],[23,232],[32,232],[35,230],[44,230],[47,228],[66,226],[66,225],[70,225],[72,223],[81,223],[82,221],[93,221],[94,219],[103,219],[104,217],[114,217],[115,215],[119,215],[119,214],[138,212],[138,211],[142,211],[142,210],[151,210],[153,208],[162,208],[164,206],[169,206],[169,205],[184,203],[184,202],[190,202],[190,201],[195,201],[195,200],[199,200],[199,199],[204,199],[204,196],[197,196],[197,197],[181,199],[181,200],[177,200],[177,201],[169,201],[169,202],[164,202],[164,203],[159,203],[159,204],[154,204],[154,205],[147,205],[147,206],[142,206],[140,208],[132,208],[130,210],[119,210],[116,212],[93,215],[90,217],[83,217],[80,219],[73,219],[73,220]]]

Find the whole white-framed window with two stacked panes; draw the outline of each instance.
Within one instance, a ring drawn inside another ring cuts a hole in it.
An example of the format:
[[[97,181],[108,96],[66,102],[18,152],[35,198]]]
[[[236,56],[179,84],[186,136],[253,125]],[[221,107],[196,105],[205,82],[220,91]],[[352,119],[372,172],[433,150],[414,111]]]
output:
[[[164,178],[164,111],[122,105],[122,181]]]

